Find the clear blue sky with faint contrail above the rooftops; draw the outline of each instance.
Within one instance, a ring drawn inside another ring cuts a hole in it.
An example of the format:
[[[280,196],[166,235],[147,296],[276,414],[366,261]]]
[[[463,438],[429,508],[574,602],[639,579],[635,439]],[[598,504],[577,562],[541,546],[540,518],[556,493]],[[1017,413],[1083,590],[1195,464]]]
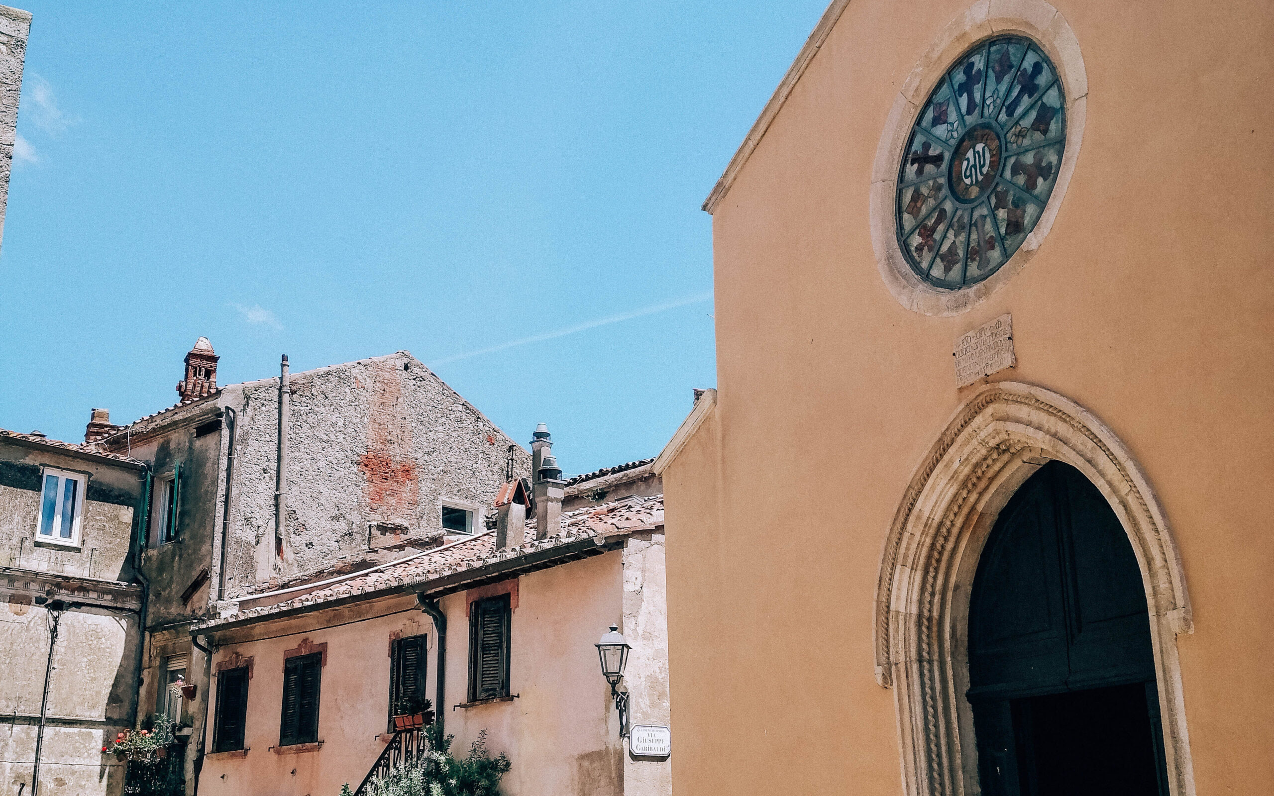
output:
[[[824,8],[25,3],[0,427],[406,349],[581,473],[715,385],[699,204]]]

